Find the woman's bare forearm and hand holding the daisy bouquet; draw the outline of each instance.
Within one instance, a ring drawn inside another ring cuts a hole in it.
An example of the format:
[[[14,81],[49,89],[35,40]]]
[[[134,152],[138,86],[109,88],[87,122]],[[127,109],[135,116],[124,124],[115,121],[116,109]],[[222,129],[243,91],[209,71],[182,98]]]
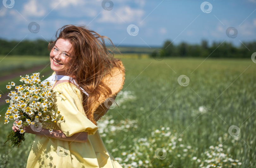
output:
[[[19,127],[15,126],[14,124],[13,124],[12,129],[14,132],[16,132],[17,130],[19,131]],[[23,127],[23,130],[27,133],[51,137],[51,138],[59,139],[62,141],[75,141],[75,142],[85,143],[85,142],[87,142],[87,139],[88,139],[87,132],[78,132],[70,137],[67,137],[61,130],[53,130],[52,132],[49,132],[49,130],[42,128],[42,130],[40,132],[35,132],[31,129],[30,126]]]

